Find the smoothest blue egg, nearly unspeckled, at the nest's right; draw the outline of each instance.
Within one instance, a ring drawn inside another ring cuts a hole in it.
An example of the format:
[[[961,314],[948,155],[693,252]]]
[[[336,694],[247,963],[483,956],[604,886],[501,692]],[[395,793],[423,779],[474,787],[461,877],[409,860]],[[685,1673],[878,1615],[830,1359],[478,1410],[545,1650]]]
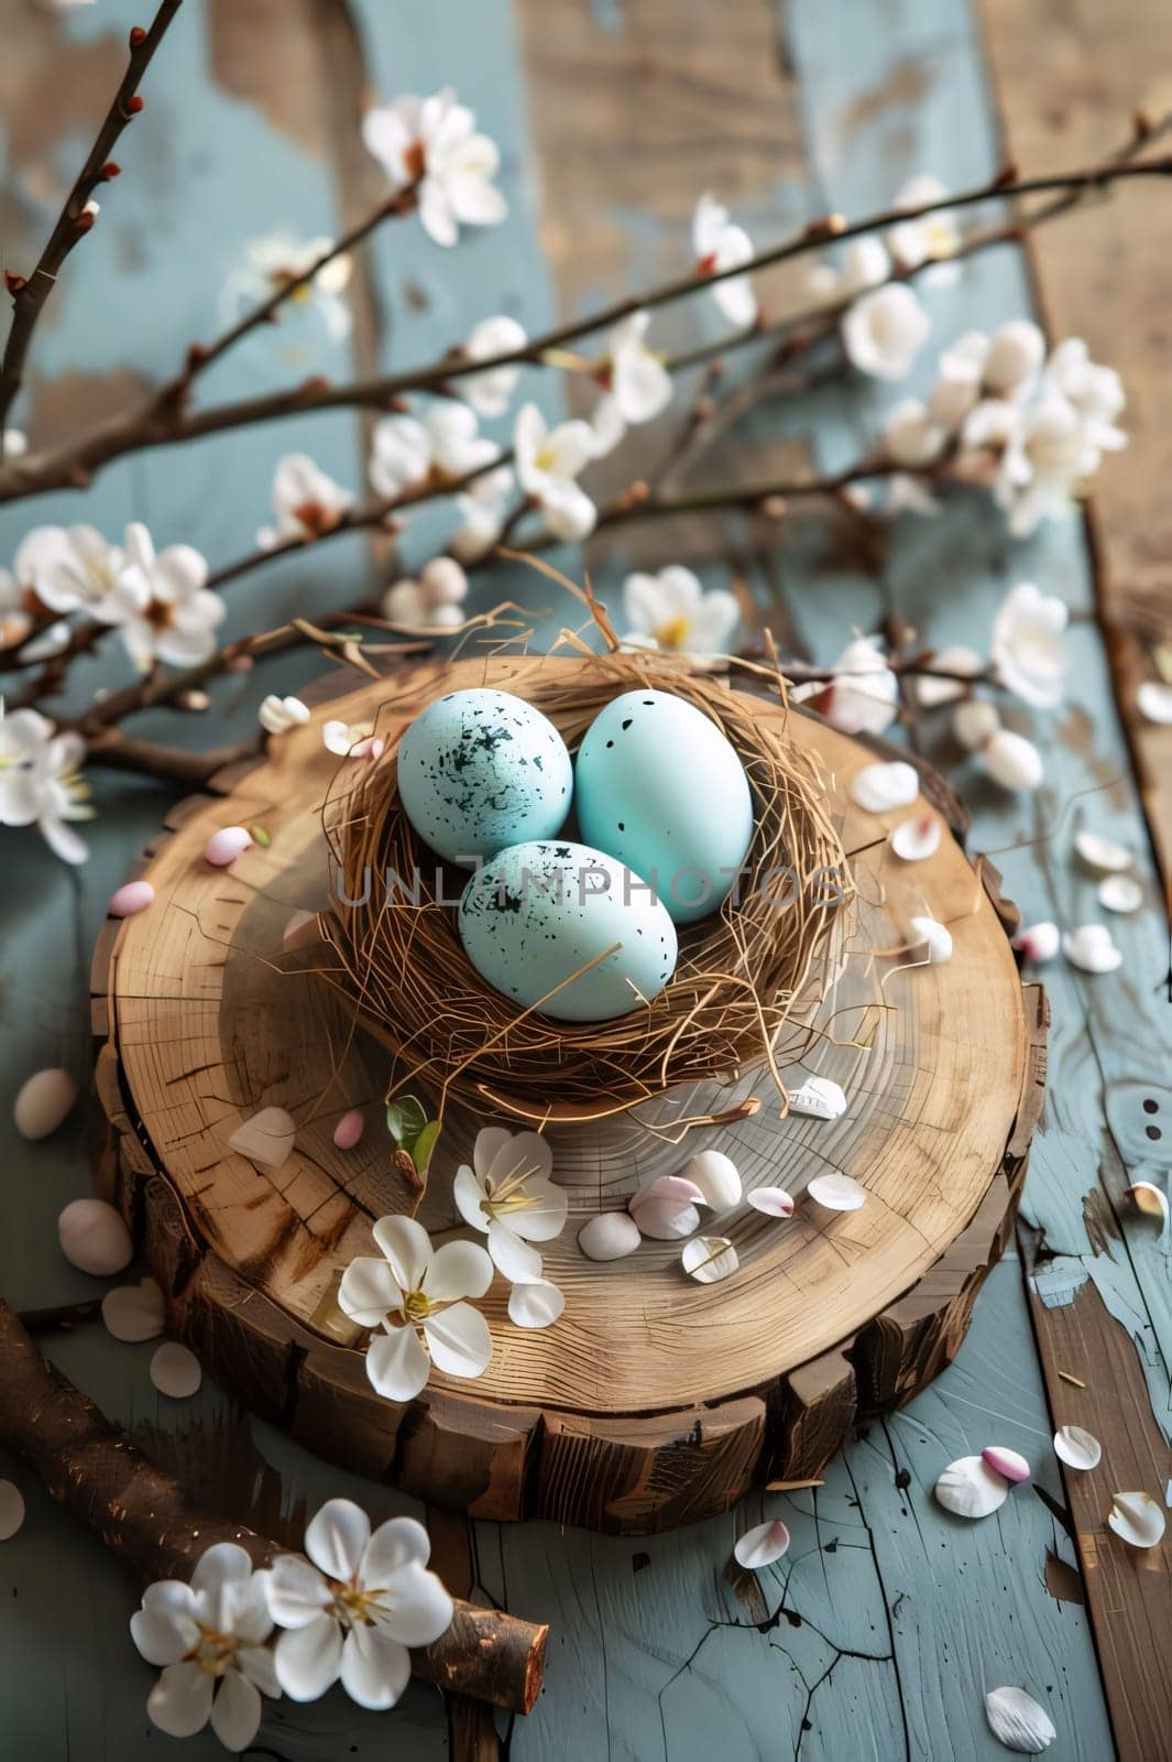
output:
[[[676,923],[722,906],[753,839],[753,796],[707,715],[667,691],[623,692],[586,729],[574,793],[582,837],[653,883]]]

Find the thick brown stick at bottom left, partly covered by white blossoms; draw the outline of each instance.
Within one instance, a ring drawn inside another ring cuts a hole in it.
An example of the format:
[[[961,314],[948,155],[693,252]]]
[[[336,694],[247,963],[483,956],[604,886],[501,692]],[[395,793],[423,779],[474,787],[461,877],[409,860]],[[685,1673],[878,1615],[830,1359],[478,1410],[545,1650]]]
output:
[[[257,1566],[290,1549],[188,1505],[172,1475],[155,1468],[106,1415],[37,1351],[0,1299],[0,1443],[16,1450],[49,1494],[130,1561],[141,1579],[190,1579],[204,1549],[238,1542]],[[502,1609],[452,1598],[456,1614],[435,1646],[412,1653],[412,1674],[454,1695],[530,1713],[546,1665],[549,1628]]]

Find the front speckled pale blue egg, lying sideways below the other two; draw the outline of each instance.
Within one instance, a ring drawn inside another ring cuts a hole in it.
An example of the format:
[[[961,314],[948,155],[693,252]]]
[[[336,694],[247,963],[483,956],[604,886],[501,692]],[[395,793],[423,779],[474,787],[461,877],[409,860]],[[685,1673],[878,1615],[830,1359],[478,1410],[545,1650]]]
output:
[[[538,840],[502,851],[465,888],[459,937],[489,985],[521,1008],[547,997],[540,1013],[560,1022],[628,1015],[676,971],[676,925],[663,906],[588,844]],[[614,953],[556,990],[609,948]]]

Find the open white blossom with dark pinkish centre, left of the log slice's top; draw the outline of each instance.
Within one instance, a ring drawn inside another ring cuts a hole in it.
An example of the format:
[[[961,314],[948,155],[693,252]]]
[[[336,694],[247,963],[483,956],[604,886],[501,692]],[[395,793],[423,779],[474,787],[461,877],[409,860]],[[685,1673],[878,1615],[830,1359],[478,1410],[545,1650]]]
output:
[[[127,560],[109,601],[130,659],[143,673],[157,661],[194,666],[215,652],[215,631],[227,608],[206,580],[208,564],[190,544],[157,552],[144,525],[127,527]]]

